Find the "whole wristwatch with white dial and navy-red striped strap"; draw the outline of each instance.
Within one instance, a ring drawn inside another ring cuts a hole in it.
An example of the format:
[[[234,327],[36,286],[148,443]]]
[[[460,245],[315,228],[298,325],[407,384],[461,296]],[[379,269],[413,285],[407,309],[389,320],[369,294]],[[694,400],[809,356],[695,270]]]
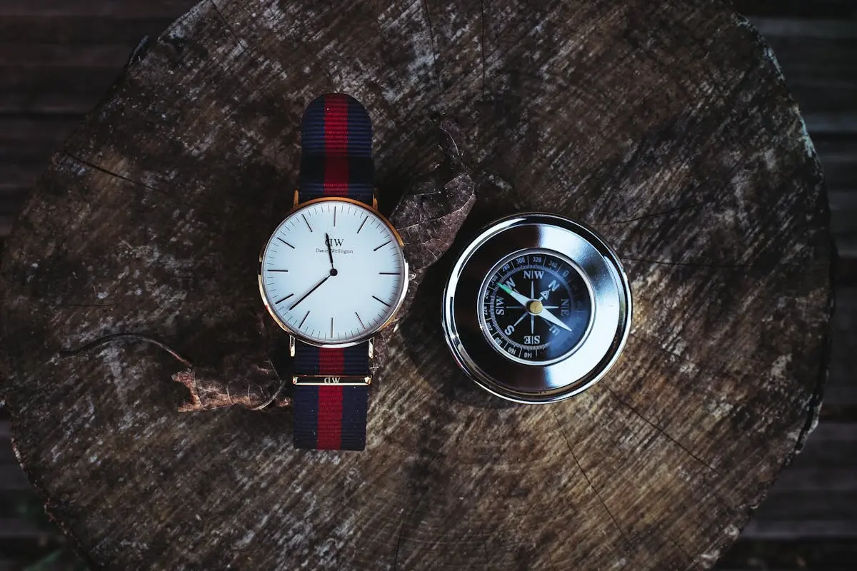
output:
[[[342,93],[310,103],[294,208],[259,265],[262,301],[289,335],[299,449],[366,445],[372,338],[408,284],[402,239],[377,210],[374,171],[363,105]]]

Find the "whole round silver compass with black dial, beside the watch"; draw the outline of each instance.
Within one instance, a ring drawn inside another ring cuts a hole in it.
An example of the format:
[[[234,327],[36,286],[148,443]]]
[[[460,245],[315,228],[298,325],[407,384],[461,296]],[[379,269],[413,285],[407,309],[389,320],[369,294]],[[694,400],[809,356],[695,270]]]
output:
[[[528,291],[520,279],[507,277],[515,265],[537,274],[532,269],[538,264],[548,278],[538,286],[531,280]],[[550,301],[560,285],[575,298],[571,311],[567,299]],[[545,291],[536,296],[536,288]],[[494,312],[506,312],[499,305],[504,299],[524,312],[518,323],[494,318]],[[559,318],[560,311],[567,317]],[[443,330],[458,366],[483,389],[521,403],[560,401],[595,384],[618,360],[631,316],[631,288],[616,253],[584,224],[540,212],[500,218],[482,229],[459,254],[443,294]],[[559,354],[550,354],[551,341],[542,342],[542,336],[505,335],[526,318],[531,333],[538,321],[546,336],[555,331],[567,341]],[[534,339],[541,344],[533,342],[531,351],[518,342]]]

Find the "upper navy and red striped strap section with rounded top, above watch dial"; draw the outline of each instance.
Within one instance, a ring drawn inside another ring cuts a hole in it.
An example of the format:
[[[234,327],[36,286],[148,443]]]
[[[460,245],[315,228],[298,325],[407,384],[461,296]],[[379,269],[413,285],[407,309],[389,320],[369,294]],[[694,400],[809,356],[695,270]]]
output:
[[[298,200],[340,196],[372,205],[372,121],[363,105],[344,93],[327,93],[309,104],[301,128]]]

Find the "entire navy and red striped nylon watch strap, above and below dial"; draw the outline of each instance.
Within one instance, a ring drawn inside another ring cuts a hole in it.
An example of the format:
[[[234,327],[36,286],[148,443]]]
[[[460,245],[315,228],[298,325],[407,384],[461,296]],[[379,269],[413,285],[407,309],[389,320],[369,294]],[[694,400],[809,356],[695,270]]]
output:
[[[340,196],[372,205],[372,123],[357,99],[328,93],[303,115],[298,199]],[[293,374],[369,377],[369,342],[318,348],[295,342]],[[362,450],[366,446],[369,386],[297,384],[294,443],[303,449]]]

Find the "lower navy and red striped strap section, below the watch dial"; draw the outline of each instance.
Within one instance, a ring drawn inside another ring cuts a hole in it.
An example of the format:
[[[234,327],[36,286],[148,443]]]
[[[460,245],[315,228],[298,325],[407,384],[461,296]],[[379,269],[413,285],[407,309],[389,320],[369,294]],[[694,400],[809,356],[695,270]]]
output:
[[[369,377],[369,343],[347,348],[318,348],[295,343],[296,375]],[[302,449],[363,450],[369,385],[297,384],[294,444]]]

